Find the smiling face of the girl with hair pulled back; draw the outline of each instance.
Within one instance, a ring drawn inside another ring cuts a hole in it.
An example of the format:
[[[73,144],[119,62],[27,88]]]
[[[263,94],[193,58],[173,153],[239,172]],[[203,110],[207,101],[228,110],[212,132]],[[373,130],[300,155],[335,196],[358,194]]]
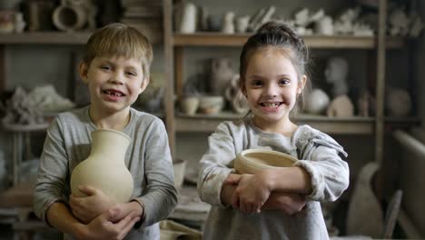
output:
[[[248,99],[254,123],[261,128],[290,123],[290,112],[305,85],[306,76],[299,79],[282,51],[269,47],[253,53],[242,79],[242,93]]]

